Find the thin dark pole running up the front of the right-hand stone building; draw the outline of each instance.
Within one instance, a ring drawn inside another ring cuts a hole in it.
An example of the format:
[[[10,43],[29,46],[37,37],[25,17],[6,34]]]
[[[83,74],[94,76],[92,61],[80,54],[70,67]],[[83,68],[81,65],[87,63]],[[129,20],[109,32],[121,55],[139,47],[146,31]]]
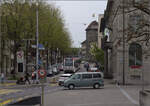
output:
[[[125,2],[122,0],[123,12],[123,85],[125,85]]]

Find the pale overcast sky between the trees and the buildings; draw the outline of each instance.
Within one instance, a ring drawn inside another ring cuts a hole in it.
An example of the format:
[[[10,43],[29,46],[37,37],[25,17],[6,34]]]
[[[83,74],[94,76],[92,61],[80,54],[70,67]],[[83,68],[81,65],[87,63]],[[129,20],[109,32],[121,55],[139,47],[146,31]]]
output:
[[[107,1],[53,1],[53,3],[62,11],[74,47],[79,47],[86,39],[86,27],[98,19],[98,14],[104,14],[107,5]]]

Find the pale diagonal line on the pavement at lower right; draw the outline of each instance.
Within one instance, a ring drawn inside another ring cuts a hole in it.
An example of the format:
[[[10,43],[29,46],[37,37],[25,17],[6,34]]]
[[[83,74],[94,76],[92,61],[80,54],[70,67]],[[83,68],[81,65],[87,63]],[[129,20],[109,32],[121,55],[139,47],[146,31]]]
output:
[[[120,91],[124,94],[124,96],[126,96],[127,98],[128,98],[128,100],[131,102],[131,103],[133,103],[133,104],[135,104],[135,105],[139,105],[139,102],[138,101],[136,101],[136,100],[134,100],[124,89],[122,89],[120,86],[118,86],[118,85],[116,85],[119,89],[120,89]]]

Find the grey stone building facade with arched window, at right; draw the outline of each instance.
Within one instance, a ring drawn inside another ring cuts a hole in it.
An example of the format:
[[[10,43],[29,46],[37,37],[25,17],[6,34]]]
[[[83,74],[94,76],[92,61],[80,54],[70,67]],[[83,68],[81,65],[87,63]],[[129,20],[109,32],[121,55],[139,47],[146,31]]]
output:
[[[150,66],[147,64],[149,47],[146,45],[149,28],[145,24],[149,22],[149,18],[145,12],[135,7],[142,1],[124,0],[123,4],[122,0],[108,0],[105,27],[111,29],[109,40],[112,42],[112,50],[109,53],[109,69],[119,83],[125,81],[125,84],[142,84],[145,73],[144,83],[150,83]]]

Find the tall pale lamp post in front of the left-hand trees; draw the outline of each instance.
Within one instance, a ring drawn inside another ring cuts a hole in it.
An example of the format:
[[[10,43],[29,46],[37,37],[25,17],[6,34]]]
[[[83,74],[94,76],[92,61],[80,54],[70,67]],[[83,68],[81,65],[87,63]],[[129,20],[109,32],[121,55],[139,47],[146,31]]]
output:
[[[39,11],[38,11],[38,0],[36,2],[36,82],[38,83],[38,61],[39,61]]]

